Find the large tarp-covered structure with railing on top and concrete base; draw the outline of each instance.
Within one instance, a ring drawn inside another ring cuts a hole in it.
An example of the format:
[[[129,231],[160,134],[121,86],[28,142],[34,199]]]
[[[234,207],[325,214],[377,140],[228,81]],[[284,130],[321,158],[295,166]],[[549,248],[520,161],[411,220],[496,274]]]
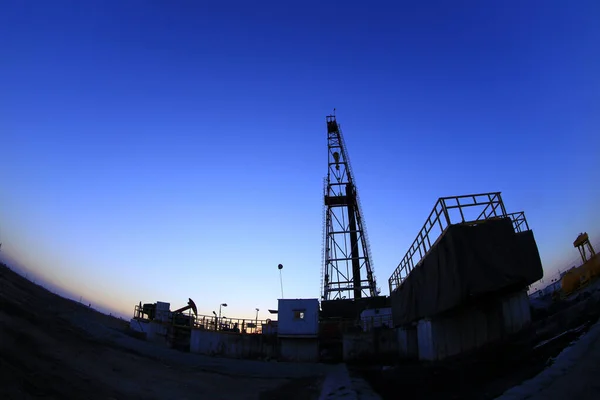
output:
[[[524,213],[507,214],[500,193],[440,198],[389,280],[400,356],[440,361],[509,340],[531,323],[527,287],[542,276]]]

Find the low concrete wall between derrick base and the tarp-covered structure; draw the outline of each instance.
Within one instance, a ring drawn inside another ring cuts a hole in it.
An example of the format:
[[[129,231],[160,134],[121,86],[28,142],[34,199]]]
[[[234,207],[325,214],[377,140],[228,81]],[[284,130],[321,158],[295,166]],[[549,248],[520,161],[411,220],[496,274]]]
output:
[[[398,355],[398,335],[395,329],[344,333],[342,348],[346,362],[391,358]]]

